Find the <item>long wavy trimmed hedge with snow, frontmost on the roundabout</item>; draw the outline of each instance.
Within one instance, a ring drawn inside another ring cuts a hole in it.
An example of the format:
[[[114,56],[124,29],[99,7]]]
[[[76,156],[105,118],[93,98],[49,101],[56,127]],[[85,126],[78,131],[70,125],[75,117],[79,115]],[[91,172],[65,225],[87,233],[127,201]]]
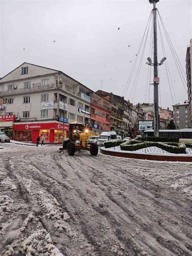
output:
[[[161,142],[140,142],[138,144],[130,144],[126,143],[123,145],[120,145],[121,150],[126,151],[135,151],[141,148],[156,146],[158,148],[164,149],[169,153],[174,154],[186,154],[186,145],[184,143],[178,144],[178,146],[170,146],[165,143]]]

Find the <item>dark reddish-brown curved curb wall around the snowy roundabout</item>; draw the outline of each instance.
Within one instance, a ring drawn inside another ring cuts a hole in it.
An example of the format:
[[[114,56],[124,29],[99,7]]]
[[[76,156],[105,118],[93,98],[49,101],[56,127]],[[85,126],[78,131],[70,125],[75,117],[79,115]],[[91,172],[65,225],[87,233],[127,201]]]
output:
[[[153,161],[192,162],[192,157],[187,157],[187,156],[124,153],[124,152],[108,151],[103,148],[100,148],[100,153],[104,155],[111,155],[114,157],[126,157],[126,158],[133,158],[133,159],[153,160]]]

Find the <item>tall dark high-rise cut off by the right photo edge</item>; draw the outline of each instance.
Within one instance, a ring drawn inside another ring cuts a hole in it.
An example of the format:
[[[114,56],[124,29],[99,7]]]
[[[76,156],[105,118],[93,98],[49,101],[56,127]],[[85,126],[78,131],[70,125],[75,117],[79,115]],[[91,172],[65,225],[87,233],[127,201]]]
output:
[[[188,91],[188,101],[189,101],[189,127],[192,128],[192,39],[190,40],[190,45],[187,47],[186,53],[186,76],[187,76],[187,91]]]

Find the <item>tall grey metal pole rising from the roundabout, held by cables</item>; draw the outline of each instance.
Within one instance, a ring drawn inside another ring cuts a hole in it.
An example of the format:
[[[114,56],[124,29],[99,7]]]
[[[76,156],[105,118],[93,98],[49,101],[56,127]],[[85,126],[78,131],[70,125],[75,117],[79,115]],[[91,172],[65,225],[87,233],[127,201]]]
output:
[[[153,0],[154,9],[154,78],[158,77],[158,59],[157,59],[157,9],[156,2],[159,0]],[[159,92],[158,92],[158,82],[154,79],[154,136],[159,136]]]

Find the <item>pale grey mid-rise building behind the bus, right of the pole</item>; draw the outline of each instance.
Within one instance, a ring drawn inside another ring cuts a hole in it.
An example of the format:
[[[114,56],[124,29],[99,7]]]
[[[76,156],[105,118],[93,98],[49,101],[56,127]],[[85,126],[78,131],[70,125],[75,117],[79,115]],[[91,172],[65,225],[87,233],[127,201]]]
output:
[[[176,129],[189,128],[189,101],[173,105],[173,121]]]

